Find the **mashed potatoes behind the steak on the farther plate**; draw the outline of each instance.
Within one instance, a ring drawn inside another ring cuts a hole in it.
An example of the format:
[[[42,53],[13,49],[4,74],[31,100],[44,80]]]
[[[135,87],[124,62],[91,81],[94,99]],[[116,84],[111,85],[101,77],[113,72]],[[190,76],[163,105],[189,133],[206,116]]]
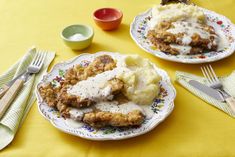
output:
[[[152,18],[149,27],[153,29],[162,21],[175,22],[178,20],[187,20],[193,22],[204,23],[205,15],[197,6],[186,5],[182,3],[158,5],[152,9]]]

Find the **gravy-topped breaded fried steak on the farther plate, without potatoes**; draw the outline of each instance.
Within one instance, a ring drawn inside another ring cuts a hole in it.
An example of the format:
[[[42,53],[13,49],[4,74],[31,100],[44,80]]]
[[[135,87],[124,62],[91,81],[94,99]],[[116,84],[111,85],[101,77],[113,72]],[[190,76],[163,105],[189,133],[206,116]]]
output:
[[[161,22],[147,37],[159,50],[173,55],[215,51],[218,46],[213,27],[187,21]]]

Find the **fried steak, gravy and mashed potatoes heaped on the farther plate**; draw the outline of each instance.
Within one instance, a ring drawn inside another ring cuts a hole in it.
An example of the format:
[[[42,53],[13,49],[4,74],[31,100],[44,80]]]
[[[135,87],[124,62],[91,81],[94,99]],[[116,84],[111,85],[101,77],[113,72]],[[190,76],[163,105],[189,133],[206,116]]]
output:
[[[224,47],[220,33],[208,25],[204,11],[195,5],[157,5],[152,8],[147,24],[147,38],[167,54],[201,54]]]

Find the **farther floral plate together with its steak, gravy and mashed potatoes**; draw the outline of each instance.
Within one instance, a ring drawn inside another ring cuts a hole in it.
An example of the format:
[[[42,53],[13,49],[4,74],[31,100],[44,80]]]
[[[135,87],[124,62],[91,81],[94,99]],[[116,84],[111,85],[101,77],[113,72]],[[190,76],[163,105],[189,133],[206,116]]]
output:
[[[135,17],[130,34],[143,50],[174,62],[213,62],[235,50],[234,24],[194,5],[153,7]]]

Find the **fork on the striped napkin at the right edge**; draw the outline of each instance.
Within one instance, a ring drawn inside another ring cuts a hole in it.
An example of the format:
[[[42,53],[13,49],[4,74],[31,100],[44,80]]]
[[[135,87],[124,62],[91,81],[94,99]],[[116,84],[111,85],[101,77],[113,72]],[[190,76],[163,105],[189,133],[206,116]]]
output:
[[[211,65],[203,66],[201,67],[202,74],[205,78],[207,78],[207,82],[209,83],[209,86],[221,93],[224,100],[228,103],[233,113],[235,113],[235,98],[233,98],[229,93],[227,93],[221,81],[218,79],[217,75],[215,74],[215,71],[213,70]]]

